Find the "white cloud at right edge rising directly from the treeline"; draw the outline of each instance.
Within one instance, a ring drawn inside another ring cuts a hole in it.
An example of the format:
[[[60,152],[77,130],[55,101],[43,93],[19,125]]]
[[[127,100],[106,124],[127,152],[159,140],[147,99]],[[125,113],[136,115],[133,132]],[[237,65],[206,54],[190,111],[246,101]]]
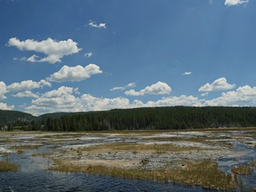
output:
[[[206,101],[206,106],[255,106],[256,86],[239,86],[237,90],[222,93],[221,97]]]

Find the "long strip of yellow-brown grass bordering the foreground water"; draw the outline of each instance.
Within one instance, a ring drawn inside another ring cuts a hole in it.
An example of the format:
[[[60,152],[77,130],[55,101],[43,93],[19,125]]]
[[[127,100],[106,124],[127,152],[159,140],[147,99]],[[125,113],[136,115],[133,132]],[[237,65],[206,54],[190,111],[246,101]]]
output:
[[[217,162],[186,162],[178,168],[164,170],[124,169],[116,166],[92,166],[55,161],[51,170],[102,174],[118,178],[148,179],[165,182],[182,182],[209,189],[232,190],[235,183],[230,174],[218,170]]]

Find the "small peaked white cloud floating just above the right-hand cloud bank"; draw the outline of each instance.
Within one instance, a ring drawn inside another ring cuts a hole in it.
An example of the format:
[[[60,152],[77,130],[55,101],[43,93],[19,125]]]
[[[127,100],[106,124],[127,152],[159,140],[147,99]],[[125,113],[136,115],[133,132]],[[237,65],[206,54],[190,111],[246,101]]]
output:
[[[235,84],[229,84],[226,82],[226,78],[218,78],[213,83],[206,83],[201,86],[198,91],[215,91],[215,90],[231,90],[235,87]]]

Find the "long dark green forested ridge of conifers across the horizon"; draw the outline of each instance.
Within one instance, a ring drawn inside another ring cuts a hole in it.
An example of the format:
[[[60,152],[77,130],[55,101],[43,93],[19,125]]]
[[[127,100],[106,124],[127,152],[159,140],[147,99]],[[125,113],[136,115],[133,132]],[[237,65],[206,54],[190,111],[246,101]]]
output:
[[[256,126],[256,107],[168,106],[44,114],[15,122],[22,130],[183,130]],[[15,127],[14,127],[15,128]]]

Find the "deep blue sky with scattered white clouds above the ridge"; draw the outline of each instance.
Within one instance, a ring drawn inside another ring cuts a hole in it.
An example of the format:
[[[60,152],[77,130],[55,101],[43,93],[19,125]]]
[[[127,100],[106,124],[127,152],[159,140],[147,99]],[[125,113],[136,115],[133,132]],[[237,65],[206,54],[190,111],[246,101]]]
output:
[[[256,106],[255,0],[0,0],[0,109]]]

